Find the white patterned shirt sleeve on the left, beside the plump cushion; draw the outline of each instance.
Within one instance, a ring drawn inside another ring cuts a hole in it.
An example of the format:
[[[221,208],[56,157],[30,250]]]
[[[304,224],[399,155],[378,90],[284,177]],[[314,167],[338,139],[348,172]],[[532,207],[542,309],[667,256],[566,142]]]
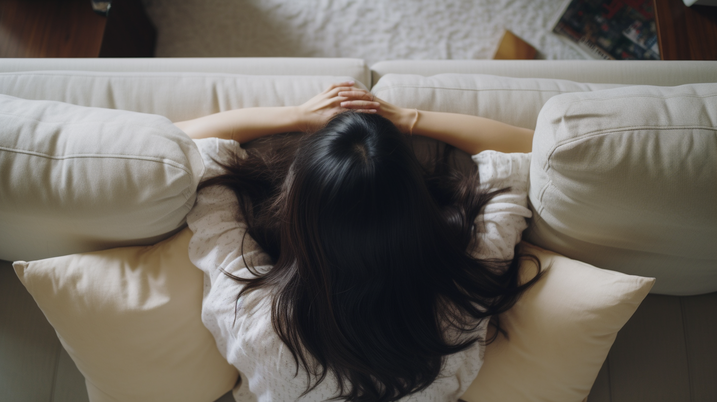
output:
[[[195,143],[204,159],[204,178],[225,172],[216,161],[231,160],[234,153],[240,157],[245,154],[236,141],[209,138],[195,140]],[[223,275],[220,268],[248,278],[251,275],[246,269],[247,263],[259,271],[270,263],[266,253],[247,235],[247,224],[239,213],[232,190],[220,186],[199,190],[186,221],[194,233],[189,240],[189,259],[204,271],[209,286]]]

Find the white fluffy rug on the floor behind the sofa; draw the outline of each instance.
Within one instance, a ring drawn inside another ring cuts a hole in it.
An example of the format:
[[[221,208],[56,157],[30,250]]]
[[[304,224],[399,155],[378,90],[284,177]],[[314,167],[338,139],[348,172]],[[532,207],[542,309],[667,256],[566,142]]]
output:
[[[157,57],[490,59],[510,29],[547,59],[564,0],[144,0]]]

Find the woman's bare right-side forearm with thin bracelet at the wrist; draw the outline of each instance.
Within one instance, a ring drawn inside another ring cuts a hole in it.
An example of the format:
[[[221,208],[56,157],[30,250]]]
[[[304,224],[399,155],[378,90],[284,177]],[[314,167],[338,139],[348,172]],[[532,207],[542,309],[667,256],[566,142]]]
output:
[[[338,95],[351,95],[349,91]],[[417,111],[399,108],[379,98],[373,98],[377,113],[389,118],[404,133],[431,137],[451,144],[468,154],[486,149],[504,153],[530,152],[533,148],[533,130],[490,120],[490,118],[458,113]]]

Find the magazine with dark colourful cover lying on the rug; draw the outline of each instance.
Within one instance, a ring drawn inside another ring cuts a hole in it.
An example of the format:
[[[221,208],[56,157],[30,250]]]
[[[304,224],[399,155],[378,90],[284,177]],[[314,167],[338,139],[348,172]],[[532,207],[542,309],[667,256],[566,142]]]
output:
[[[595,58],[660,60],[652,0],[572,0],[553,32]]]

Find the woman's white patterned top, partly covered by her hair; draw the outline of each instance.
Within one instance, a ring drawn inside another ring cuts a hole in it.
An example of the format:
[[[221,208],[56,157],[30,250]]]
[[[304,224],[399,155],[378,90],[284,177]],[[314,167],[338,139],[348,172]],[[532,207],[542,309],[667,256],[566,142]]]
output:
[[[227,160],[232,152],[244,153],[235,141],[222,139],[195,140],[206,165],[205,177],[223,172],[214,160]],[[511,187],[485,206],[478,218],[480,245],[473,255],[478,258],[513,258],[513,247],[521,239],[531,217],[527,205],[528,166],[531,154],[502,154],[483,151],[473,156],[480,180],[490,189]],[[212,160],[214,159],[214,160]],[[270,259],[248,236],[244,239],[244,256],[240,251],[246,230],[237,221],[234,193],[222,187],[199,191],[196,204],[187,215],[194,232],[189,243],[189,258],[204,271],[204,299],[201,320],[217,341],[219,352],[241,373],[242,381],[234,388],[237,402],[325,401],[336,395],[336,379],[327,375],[317,388],[305,396],[303,370],[295,375],[296,365],[287,347],[272,329],[270,295],[258,289],[236,297],[242,284],[219,271],[249,278],[244,259],[251,259],[257,270],[270,268]],[[236,311],[236,315],[234,312]],[[476,329],[485,337],[487,323]],[[449,355],[439,377],[424,391],[402,399],[402,402],[457,401],[478,375],[483,365],[485,347],[476,343],[462,352]]]

